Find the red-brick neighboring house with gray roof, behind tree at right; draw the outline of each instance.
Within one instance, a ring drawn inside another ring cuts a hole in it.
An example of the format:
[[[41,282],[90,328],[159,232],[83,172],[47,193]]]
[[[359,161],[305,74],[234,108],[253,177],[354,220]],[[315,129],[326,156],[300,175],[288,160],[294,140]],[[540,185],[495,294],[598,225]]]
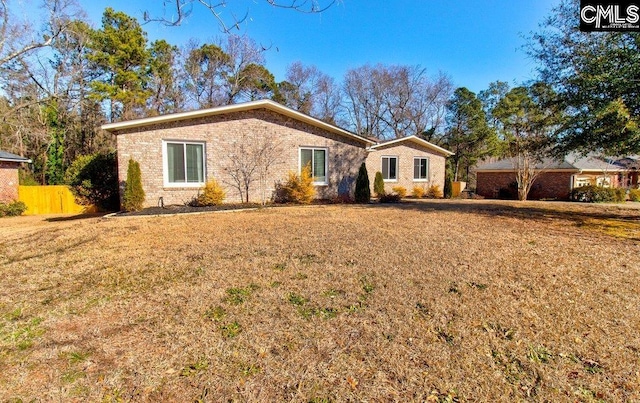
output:
[[[624,168],[595,156],[571,154],[563,160],[544,159],[528,199],[567,200],[572,189],[585,185],[617,187]],[[517,194],[513,161],[504,159],[476,168],[476,193],[487,198],[512,198]]]

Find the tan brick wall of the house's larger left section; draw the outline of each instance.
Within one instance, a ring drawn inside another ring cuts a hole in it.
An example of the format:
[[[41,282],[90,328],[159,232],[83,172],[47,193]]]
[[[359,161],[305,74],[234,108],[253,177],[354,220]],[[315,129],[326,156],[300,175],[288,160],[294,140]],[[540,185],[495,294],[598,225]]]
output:
[[[118,177],[121,186],[127,177],[128,161],[133,158],[140,163],[146,207],[157,205],[160,197],[165,204],[183,204],[199,191],[198,187],[165,187],[163,140],[204,142],[206,178],[215,178],[223,185],[227,191],[225,202],[240,201],[234,181],[224,169],[229,166],[233,150],[237,149],[237,143],[234,145],[234,142],[251,143],[267,138],[280,143],[282,154],[266,180],[268,199],[277,182],[283,181],[289,171],[299,170],[301,146],[324,147],[328,151],[328,185],[316,187],[319,198],[337,196],[339,189],[347,189],[353,195],[358,168],[367,153],[361,142],[266,109],[127,129],[117,134]],[[261,200],[259,189],[257,182],[251,185],[251,201]]]

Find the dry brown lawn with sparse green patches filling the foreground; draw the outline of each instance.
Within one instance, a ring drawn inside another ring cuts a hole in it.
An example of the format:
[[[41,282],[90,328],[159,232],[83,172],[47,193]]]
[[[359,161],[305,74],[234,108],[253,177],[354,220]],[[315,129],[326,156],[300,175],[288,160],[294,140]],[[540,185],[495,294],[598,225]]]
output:
[[[0,401],[640,401],[640,210],[0,220]]]

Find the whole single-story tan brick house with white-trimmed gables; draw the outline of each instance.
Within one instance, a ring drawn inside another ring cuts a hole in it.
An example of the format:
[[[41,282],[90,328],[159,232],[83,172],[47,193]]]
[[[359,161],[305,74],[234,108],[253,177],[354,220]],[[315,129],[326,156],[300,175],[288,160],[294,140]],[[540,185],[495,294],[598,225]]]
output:
[[[420,183],[424,177],[444,186],[441,167],[450,154],[417,138],[377,144],[270,100],[111,123],[102,128],[116,135],[121,186],[129,159],[140,163],[145,207],[188,202],[213,178],[225,188],[226,202],[241,201],[243,189],[234,178],[239,169],[250,168],[258,158],[269,161],[262,164],[269,169],[263,180],[251,183],[250,201],[260,201],[264,195],[271,199],[277,183],[307,164],[312,167],[316,197],[353,196],[362,162],[373,164],[375,174],[382,169],[383,155],[395,156],[396,175],[403,175],[410,167],[407,164],[414,163],[410,158],[428,158],[426,171],[421,168],[419,172]],[[400,178],[404,176],[397,180]],[[373,177],[370,181],[373,187]],[[405,179],[399,183],[410,184]]]

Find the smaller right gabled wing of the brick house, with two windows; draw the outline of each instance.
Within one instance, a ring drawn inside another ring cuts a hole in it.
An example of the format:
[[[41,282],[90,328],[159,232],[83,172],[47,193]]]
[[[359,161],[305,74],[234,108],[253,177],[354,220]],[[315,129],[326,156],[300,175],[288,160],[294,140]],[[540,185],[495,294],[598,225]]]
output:
[[[369,148],[367,173],[373,186],[376,172],[382,173],[387,193],[395,186],[427,190],[431,185],[444,190],[446,158],[452,152],[417,136],[408,136],[375,144]]]

